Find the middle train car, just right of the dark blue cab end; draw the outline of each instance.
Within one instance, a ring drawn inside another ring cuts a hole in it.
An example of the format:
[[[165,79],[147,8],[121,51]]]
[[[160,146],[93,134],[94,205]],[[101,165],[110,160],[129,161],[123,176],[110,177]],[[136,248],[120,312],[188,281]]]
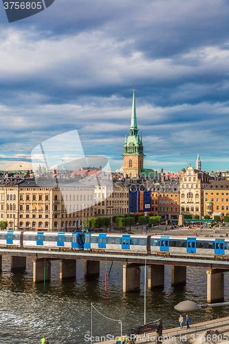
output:
[[[85,250],[108,250],[108,251],[132,251],[147,252],[147,239],[149,235],[130,234],[97,234],[87,233],[85,235]],[[149,241],[149,239],[148,239]],[[150,242],[150,241],[149,241]]]

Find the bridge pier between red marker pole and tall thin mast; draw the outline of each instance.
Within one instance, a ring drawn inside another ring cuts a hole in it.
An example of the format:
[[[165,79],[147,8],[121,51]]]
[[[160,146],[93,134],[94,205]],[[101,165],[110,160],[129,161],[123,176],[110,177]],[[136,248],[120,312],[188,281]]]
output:
[[[139,292],[141,269],[136,264],[123,266],[123,292]]]

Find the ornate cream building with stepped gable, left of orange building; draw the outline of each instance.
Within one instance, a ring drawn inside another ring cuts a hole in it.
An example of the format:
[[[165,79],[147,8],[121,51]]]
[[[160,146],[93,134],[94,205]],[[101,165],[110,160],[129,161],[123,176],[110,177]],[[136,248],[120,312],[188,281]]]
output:
[[[205,171],[186,168],[179,182],[180,210],[185,214],[204,216],[204,188],[210,184],[210,177]]]

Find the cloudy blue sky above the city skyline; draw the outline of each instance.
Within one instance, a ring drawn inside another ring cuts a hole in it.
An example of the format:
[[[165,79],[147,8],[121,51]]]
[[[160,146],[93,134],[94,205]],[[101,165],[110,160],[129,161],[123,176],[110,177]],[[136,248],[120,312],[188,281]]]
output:
[[[223,0],[55,0],[8,23],[0,3],[0,170],[73,130],[120,169],[134,82],[145,167],[199,152],[204,171],[228,171],[228,17]]]

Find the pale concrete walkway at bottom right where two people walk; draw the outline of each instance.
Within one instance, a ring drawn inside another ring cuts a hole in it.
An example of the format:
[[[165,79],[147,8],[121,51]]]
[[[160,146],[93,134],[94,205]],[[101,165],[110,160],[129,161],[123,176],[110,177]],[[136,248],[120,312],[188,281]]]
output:
[[[179,316],[178,316],[179,317]],[[178,319],[178,318],[177,318]],[[185,320],[185,319],[184,319]],[[178,320],[177,320],[178,322]],[[174,327],[171,329],[163,330],[162,332],[162,342],[172,344],[175,343],[173,338],[178,338],[179,341],[190,341],[193,342],[193,338],[195,336],[198,336],[201,334],[206,333],[208,330],[218,330],[221,332],[221,334],[225,334],[226,336],[229,336],[229,316],[226,316],[225,318],[221,319],[215,319],[210,321],[204,321],[202,323],[195,323],[190,324],[190,330],[186,330],[185,323],[183,323],[184,327]],[[124,336],[125,334],[122,334]],[[94,337],[96,337],[96,334],[93,334]],[[120,336],[120,334],[117,336]],[[149,336],[149,339],[148,339]],[[156,332],[150,332],[146,333],[146,338],[144,338],[144,335],[138,336],[138,341],[136,343],[156,343],[156,341],[152,341],[151,339],[157,338]],[[225,338],[224,338],[225,339]],[[222,343],[228,343],[227,341],[223,340]],[[96,344],[116,344],[116,341],[102,341],[102,342],[94,342]],[[200,342],[199,342],[200,343]],[[207,342],[206,342],[207,343]]]

